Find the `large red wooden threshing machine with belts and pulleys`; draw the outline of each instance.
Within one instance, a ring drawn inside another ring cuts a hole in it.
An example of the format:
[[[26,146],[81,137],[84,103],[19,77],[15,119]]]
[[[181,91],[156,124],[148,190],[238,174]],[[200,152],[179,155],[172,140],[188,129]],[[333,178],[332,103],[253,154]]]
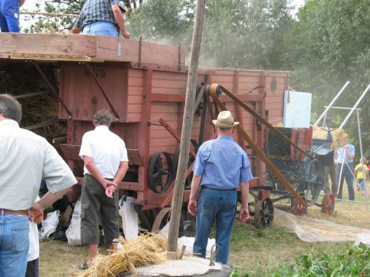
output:
[[[149,230],[156,218],[158,227],[166,214],[163,208],[171,205],[188,74],[184,61],[180,47],[149,42],[104,36],[0,34],[0,62],[34,64],[56,94],[58,118],[67,125],[66,143],[60,148],[79,185],[83,176],[83,161],[78,157],[82,135],[93,129],[95,111],[112,111],[115,120],[110,129],[123,138],[130,159],[130,170],[119,188],[121,193],[134,194],[141,225]],[[58,87],[45,74],[45,65],[59,68]],[[189,166],[197,146],[214,137],[211,119],[217,116],[218,107],[206,92],[206,84],[222,84],[272,124],[282,121],[288,72],[199,68],[198,81]],[[263,149],[267,129],[261,120],[230,96],[221,94],[218,98]],[[243,137],[236,134],[234,140],[249,154],[254,174],[250,187],[264,186],[264,162]],[[71,189],[73,200],[80,193],[79,185]],[[186,187],[184,205],[189,192]],[[268,191],[262,190],[259,198],[267,196]]]

